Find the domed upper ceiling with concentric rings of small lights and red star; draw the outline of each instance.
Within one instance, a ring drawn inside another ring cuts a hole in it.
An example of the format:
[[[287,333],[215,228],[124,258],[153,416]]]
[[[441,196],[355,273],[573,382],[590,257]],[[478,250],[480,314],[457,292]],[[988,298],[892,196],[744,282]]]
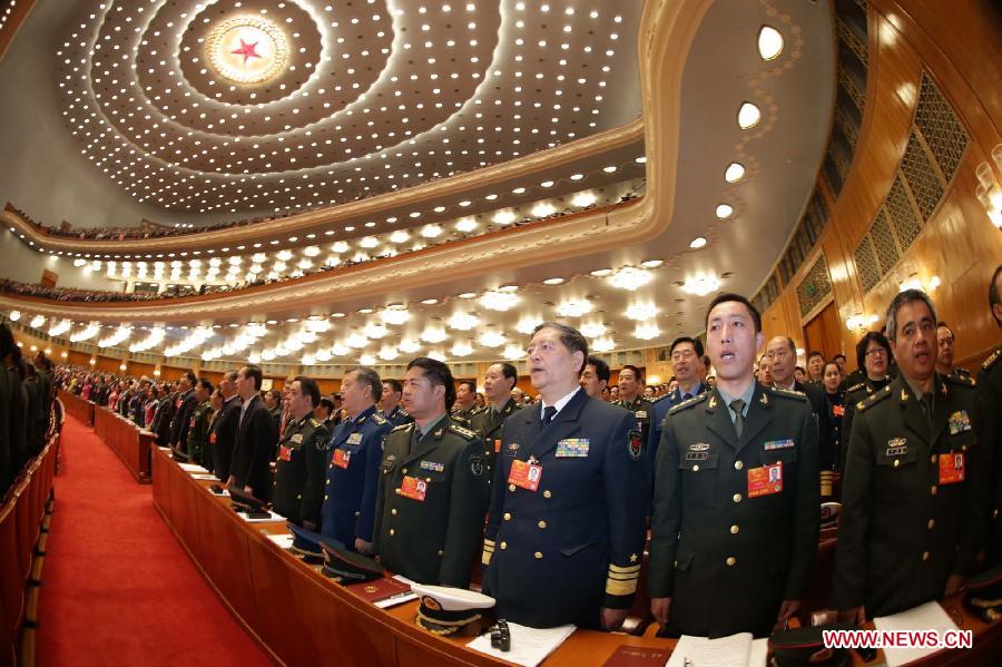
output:
[[[639,6],[79,2],[65,121],[139,202],[278,213],[392,192],[640,114]],[[632,3],[627,3],[632,4]]]

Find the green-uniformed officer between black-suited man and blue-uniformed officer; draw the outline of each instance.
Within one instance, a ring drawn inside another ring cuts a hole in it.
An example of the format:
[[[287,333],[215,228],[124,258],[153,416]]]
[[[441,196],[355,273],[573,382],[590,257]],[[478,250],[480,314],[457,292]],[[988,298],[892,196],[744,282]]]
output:
[[[272,502],[293,523],[316,530],[324,492],[327,429],[313,410],[320,402],[316,381],[303,375],[288,384],[285,409],[291,420],[278,441]]]

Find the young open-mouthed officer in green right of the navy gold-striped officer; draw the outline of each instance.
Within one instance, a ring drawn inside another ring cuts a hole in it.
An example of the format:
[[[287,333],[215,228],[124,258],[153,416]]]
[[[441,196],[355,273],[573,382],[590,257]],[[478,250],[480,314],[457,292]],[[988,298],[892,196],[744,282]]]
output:
[[[648,586],[668,635],[767,636],[796,612],[819,532],[817,421],[799,392],[755,381],[762,320],[721,294],[706,317],[713,390],[668,412]]]

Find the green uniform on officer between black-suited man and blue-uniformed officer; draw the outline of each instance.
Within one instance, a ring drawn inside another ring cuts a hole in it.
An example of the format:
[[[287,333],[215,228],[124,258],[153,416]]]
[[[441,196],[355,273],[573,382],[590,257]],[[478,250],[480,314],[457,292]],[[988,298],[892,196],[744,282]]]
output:
[[[321,524],[328,437],[324,423],[307,412],[288,422],[278,442],[272,502],[274,510],[293,523]]]

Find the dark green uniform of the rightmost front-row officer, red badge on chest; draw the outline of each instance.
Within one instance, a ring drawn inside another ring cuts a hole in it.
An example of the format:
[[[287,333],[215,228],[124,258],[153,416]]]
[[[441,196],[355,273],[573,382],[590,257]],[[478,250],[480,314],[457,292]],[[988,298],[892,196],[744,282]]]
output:
[[[832,606],[870,617],[941,598],[970,572],[990,448],[972,424],[974,381],[936,375],[931,409],[898,376],[856,408],[848,435]]]

